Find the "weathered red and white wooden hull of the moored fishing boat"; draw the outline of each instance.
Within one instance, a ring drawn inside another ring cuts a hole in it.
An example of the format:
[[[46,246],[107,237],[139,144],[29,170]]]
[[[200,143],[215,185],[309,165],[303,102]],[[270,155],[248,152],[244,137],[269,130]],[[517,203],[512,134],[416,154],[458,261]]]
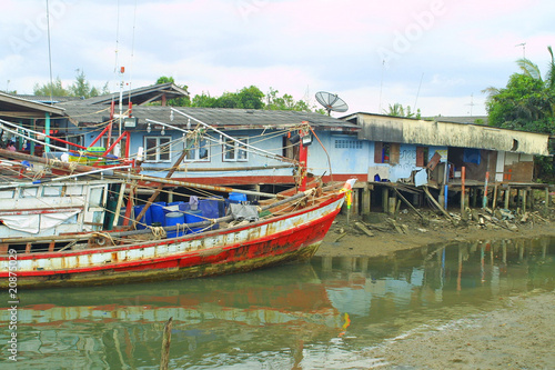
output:
[[[307,260],[340,211],[343,196],[335,193],[293,213],[199,236],[19,253],[17,286],[40,289],[200,278]],[[0,256],[0,287],[8,287],[9,266],[10,256]]]

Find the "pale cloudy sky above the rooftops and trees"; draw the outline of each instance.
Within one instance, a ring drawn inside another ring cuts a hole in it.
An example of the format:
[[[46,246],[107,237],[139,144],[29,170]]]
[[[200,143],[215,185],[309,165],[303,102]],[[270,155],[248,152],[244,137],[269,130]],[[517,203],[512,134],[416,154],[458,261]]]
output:
[[[81,70],[111,91],[161,76],[192,96],[256,86],[317,106],[326,91],[349,106],[334,117],[483,116],[482,91],[516,60],[546,71],[554,13],[552,0],[2,0],[0,90],[50,74],[67,88]]]

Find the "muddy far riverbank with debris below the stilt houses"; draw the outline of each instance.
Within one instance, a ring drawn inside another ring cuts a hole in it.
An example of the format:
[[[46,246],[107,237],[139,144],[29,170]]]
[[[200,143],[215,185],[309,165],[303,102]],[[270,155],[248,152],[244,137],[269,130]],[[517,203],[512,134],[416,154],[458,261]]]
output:
[[[543,216],[528,213],[512,220],[498,220],[487,216],[491,221],[462,220],[460,213],[451,219],[430,210],[414,212],[402,211],[395,217],[374,213],[371,219],[377,222],[364,222],[362,219],[339,214],[327,232],[316,256],[365,256],[376,257],[398,250],[424,247],[450,241],[495,240],[516,238],[555,237],[555,208]],[[369,236],[365,231],[369,231]]]

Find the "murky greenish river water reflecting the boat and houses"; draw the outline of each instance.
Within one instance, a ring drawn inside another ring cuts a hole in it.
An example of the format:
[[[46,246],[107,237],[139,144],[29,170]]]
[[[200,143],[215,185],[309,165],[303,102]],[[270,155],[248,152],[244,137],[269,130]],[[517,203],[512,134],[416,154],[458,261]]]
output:
[[[24,291],[18,361],[0,311],[2,369],[360,369],[364,350],[555,289],[555,239],[428,246],[391,257],[319,257],[245,274]],[[3,294],[7,302],[8,292]],[[7,303],[2,303],[7,307]]]

